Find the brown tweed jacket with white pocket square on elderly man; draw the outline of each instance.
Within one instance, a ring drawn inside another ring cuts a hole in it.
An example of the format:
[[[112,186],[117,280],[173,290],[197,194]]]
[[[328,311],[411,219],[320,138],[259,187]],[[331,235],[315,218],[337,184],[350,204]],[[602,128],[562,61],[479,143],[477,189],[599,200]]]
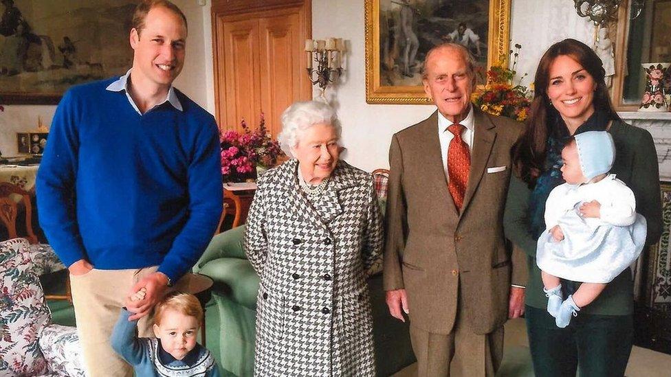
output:
[[[410,323],[436,334],[452,332],[458,311],[476,334],[507,320],[511,255],[503,208],[510,149],[522,125],[477,108],[474,117],[461,213],[443,170],[437,112],[396,133],[389,151],[384,289],[405,288]]]

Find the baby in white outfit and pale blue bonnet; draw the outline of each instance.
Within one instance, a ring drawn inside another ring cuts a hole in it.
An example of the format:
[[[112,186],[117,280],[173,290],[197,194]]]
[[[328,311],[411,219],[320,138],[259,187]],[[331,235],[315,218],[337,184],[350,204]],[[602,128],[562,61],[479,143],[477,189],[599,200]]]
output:
[[[646,219],[636,213],[634,193],[608,174],[615,159],[608,133],[575,135],[562,150],[562,159],[566,183],[547,198],[547,231],[536,251],[547,311],[560,328],[638,258],[646,241]],[[583,283],[562,301],[560,278]]]

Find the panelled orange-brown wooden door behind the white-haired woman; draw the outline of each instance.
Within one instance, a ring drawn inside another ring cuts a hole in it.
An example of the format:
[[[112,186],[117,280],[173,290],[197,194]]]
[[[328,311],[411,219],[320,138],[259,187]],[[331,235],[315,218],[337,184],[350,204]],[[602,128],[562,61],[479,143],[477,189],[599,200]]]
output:
[[[312,98],[303,52],[311,38],[310,3],[267,3],[250,9],[212,3],[214,87],[221,129],[241,130],[241,119],[256,128],[263,112],[276,137],[285,108]]]

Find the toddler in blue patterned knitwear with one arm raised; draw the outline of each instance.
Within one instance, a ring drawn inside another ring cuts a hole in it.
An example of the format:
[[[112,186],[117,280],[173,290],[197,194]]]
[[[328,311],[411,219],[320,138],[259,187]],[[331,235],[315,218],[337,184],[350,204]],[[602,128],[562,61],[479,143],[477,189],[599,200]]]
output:
[[[144,288],[129,297],[144,298]],[[203,308],[189,293],[169,293],[155,306],[155,338],[138,338],[133,313],[122,309],[114,326],[112,348],[133,365],[135,375],[219,377],[217,363],[205,347],[196,343]]]

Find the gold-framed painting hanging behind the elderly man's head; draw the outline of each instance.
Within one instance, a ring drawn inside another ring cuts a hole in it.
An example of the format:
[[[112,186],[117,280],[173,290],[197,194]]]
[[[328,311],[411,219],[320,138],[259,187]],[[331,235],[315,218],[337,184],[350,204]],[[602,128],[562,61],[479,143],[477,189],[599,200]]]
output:
[[[421,66],[453,41],[478,61],[478,76],[509,56],[510,0],[366,0],[366,102],[428,104]]]

